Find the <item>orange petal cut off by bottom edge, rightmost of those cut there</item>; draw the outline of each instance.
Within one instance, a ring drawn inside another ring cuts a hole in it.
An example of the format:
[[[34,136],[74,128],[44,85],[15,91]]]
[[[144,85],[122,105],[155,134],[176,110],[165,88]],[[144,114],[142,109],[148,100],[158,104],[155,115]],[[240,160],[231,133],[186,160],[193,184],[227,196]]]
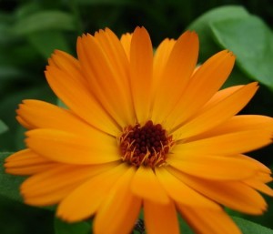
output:
[[[193,209],[177,204],[183,218],[196,233],[202,234],[241,234],[238,226],[223,209]]]

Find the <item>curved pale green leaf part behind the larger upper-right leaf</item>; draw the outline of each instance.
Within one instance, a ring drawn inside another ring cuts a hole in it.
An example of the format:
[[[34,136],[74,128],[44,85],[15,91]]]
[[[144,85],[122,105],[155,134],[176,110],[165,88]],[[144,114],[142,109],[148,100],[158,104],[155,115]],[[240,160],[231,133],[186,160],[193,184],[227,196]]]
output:
[[[200,60],[204,61],[208,56],[212,56],[219,51],[213,40],[210,25],[224,19],[239,19],[247,17],[247,10],[238,5],[220,6],[199,16],[187,29],[197,32],[200,40]]]

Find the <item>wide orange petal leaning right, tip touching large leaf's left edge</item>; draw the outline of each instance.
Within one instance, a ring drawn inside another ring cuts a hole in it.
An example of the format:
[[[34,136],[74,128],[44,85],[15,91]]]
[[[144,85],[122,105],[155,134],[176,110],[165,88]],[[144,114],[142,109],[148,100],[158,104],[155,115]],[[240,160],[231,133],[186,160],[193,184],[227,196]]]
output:
[[[187,31],[177,39],[162,69],[161,76],[155,77],[157,90],[154,99],[152,118],[161,123],[176,106],[197,65],[198,37]],[[157,68],[157,67],[155,67]]]

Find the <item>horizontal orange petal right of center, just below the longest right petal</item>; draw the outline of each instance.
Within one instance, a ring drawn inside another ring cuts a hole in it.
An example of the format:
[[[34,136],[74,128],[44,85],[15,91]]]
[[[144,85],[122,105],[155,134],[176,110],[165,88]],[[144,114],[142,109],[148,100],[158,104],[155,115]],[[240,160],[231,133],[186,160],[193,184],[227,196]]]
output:
[[[238,180],[250,178],[257,173],[258,168],[252,162],[242,158],[221,156],[173,154],[167,158],[167,163],[198,178],[216,180]]]

